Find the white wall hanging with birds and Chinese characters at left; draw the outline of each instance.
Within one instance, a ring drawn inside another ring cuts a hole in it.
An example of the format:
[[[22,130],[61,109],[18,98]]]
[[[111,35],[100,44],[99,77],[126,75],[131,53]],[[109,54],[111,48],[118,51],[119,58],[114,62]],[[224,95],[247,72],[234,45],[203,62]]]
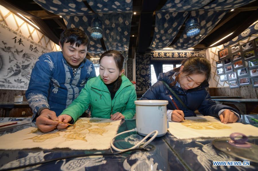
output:
[[[27,90],[38,57],[50,49],[0,25],[0,89]]]

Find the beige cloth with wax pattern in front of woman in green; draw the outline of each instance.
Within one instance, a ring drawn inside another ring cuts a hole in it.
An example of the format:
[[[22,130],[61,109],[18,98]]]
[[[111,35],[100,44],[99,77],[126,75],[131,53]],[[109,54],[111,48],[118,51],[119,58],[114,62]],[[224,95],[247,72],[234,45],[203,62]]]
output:
[[[70,148],[73,150],[109,149],[110,140],[118,130],[121,120],[103,118],[80,118],[66,129],[42,133],[30,127],[0,137],[0,149],[14,150],[24,148]]]

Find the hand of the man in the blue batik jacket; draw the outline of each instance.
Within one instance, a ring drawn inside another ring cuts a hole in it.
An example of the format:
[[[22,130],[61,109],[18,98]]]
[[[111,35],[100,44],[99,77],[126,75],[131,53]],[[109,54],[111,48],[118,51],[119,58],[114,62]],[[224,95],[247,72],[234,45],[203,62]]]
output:
[[[49,109],[43,109],[40,112],[40,116],[36,119],[36,125],[42,132],[50,132],[54,130],[58,124],[57,121],[53,120],[58,120],[56,117],[56,112]]]

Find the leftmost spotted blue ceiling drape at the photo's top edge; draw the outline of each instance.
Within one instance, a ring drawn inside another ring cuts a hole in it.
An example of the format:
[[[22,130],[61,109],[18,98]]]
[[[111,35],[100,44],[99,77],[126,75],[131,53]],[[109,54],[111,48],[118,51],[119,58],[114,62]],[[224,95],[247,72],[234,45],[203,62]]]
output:
[[[92,13],[81,0],[33,0],[56,15],[86,15]]]

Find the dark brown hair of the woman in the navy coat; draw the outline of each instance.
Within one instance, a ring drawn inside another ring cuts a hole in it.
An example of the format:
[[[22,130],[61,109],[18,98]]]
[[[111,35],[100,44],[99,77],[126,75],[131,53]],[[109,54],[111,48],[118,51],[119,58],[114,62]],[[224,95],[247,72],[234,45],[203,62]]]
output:
[[[193,75],[193,74],[200,74],[200,75],[205,75],[206,79],[204,80],[203,83],[208,83],[210,79],[210,71],[211,71],[211,66],[210,62],[208,59],[205,57],[198,57],[198,56],[193,56],[193,57],[188,57],[185,60],[181,62],[181,64],[184,66],[182,73],[184,73],[184,77],[187,77],[188,75]],[[180,67],[174,68],[173,70],[175,72],[180,71]],[[170,86],[175,86],[179,79],[179,75],[175,77],[175,81],[170,83]]]

